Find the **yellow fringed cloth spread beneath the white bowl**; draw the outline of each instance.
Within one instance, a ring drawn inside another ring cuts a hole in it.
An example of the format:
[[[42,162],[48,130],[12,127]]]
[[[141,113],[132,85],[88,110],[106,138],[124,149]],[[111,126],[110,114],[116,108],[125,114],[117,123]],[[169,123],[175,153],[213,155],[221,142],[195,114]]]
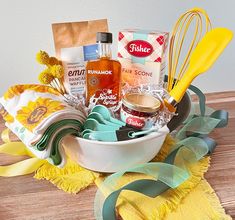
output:
[[[174,140],[168,136],[154,161],[163,161],[174,145]],[[156,198],[142,194],[124,191],[118,201],[117,210],[124,220],[206,220],[231,219],[220,205],[213,189],[203,178],[209,167],[210,158],[205,157],[199,162],[189,165],[191,177],[176,189],[170,189]],[[50,164],[40,167],[37,179],[47,179],[60,189],[76,193],[92,184],[99,187],[104,176],[70,161],[63,170]],[[141,174],[127,174],[120,185],[125,185],[136,179],[146,178]]]

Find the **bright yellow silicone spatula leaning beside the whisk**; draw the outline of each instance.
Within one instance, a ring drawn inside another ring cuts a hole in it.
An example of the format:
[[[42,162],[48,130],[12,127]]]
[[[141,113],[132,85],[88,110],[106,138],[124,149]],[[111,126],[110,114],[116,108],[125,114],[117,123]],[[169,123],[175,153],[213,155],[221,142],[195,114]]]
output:
[[[214,64],[232,37],[233,32],[226,28],[214,28],[205,34],[192,53],[188,70],[170,91],[171,98],[167,100],[168,104],[174,106],[180,102],[193,79]]]

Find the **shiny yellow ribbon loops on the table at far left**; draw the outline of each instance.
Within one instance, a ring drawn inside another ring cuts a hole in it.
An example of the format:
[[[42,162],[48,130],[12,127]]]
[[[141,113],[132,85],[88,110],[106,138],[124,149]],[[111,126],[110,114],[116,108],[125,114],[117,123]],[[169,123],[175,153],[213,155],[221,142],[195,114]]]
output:
[[[8,166],[0,166],[0,176],[11,177],[30,174],[43,164],[48,163],[46,160],[36,158],[22,142],[11,142],[9,132],[9,129],[5,129],[1,134],[1,138],[5,143],[0,146],[0,153],[12,156],[29,156],[31,158]]]

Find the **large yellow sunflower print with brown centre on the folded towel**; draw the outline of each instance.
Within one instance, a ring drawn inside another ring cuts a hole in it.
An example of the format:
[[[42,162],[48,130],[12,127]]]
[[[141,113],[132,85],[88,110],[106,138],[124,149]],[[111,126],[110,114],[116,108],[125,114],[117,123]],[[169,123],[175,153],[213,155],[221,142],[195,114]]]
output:
[[[64,107],[59,101],[40,97],[36,101],[30,101],[27,106],[18,110],[16,119],[32,132],[45,118],[56,111],[64,109]]]

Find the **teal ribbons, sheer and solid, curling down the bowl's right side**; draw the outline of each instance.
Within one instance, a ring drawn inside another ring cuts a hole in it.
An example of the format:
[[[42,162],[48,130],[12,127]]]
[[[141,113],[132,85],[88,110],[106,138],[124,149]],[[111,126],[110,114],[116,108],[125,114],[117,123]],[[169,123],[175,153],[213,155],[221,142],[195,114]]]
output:
[[[112,174],[105,179],[100,189],[108,189],[111,193],[104,198],[101,190],[97,191],[94,203],[96,219],[116,219],[116,203],[123,190],[139,192],[154,198],[170,188],[179,186],[190,176],[184,165],[186,164],[185,161],[193,163],[206,154],[213,152],[216,142],[209,138],[208,134],[215,128],[227,125],[228,113],[224,110],[218,110],[207,115],[207,112],[211,112],[211,110],[205,107],[204,94],[195,86],[190,88],[199,97],[200,114],[194,114],[190,120],[187,120],[184,127],[179,130],[176,135],[178,142],[166,157],[164,163],[156,162],[138,165],[126,171]],[[128,172],[143,173],[153,179],[136,180],[116,189],[117,181]]]

